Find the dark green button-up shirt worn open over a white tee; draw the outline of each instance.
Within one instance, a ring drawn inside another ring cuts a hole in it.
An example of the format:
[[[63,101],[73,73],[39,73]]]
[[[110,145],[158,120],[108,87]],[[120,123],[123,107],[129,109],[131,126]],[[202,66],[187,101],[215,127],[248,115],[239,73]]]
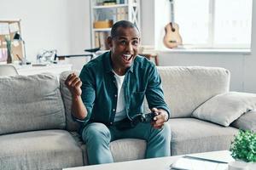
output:
[[[113,76],[112,61],[107,52],[84,65],[80,79],[82,81],[82,99],[88,111],[84,119],[87,122],[113,124],[117,105],[117,87]],[[164,109],[170,116],[161,88],[160,75],[155,65],[148,59],[137,56],[125,73],[123,82],[125,94],[125,112],[131,119],[143,113],[143,99],[146,95],[149,108]]]

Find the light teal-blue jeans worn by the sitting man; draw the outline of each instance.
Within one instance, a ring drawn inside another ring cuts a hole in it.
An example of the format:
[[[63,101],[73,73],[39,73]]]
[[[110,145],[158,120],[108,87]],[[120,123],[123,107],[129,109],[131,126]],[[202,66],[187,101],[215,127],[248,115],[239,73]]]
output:
[[[116,139],[145,139],[145,158],[171,155],[171,129],[167,123],[160,129],[155,129],[150,123],[138,123],[136,127],[121,131],[115,126],[93,122],[84,127],[82,138],[90,165],[113,162],[109,143]]]

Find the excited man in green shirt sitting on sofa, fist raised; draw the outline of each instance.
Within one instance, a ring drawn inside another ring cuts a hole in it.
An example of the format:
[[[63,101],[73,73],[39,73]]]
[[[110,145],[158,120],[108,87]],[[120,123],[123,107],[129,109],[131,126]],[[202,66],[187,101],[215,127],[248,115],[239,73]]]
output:
[[[165,123],[169,110],[160,76],[152,62],[137,55],[139,42],[137,26],[116,22],[108,37],[110,52],[84,65],[79,77],[67,77],[73,116],[84,125],[81,134],[90,165],[113,162],[109,143],[115,139],[145,139],[146,158],[170,156],[171,130]],[[145,95],[154,120],[136,122]]]

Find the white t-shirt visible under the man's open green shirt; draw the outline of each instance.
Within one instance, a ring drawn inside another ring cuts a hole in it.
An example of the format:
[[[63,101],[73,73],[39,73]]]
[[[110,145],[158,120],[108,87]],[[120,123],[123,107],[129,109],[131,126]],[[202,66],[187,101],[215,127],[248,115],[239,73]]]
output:
[[[114,116],[114,122],[121,121],[126,117],[126,112],[125,112],[125,93],[124,93],[124,88],[123,88],[123,82],[125,80],[125,75],[124,76],[119,76],[116,74],[114,71],[114,77],[116,80],[116,86],[118,88],[118,94],[117,94],[117,105],[116,105],[116,113]]]

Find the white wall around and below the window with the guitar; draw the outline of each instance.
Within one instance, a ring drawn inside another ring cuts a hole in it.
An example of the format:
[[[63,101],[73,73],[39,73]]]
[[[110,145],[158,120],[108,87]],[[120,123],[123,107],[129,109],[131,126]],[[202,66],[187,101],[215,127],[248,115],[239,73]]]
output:
[[[157,1],[156,1],[157,3]],[[160,65],[218,66],[231,72],[230,90],[256,93],[256,3],[253,3],[251,54],[160,53]],[[143,44],[154,45],[154,0],[142,0]],[[151,36],[148,36],[151,35]]]

